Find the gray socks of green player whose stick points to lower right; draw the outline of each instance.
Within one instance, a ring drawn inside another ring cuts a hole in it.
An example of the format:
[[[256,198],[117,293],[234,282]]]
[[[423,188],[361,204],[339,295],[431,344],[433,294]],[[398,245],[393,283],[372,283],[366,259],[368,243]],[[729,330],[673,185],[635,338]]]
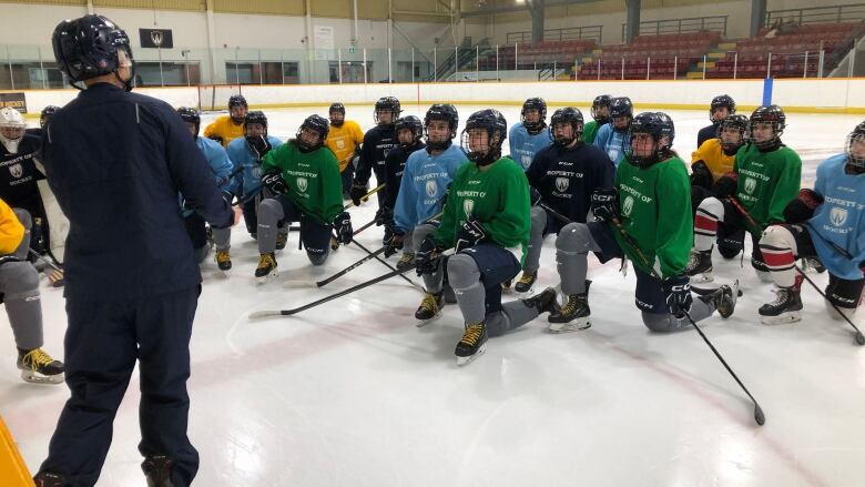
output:
[[[612,242],[614,244],[614,241]],[[586,293],[589,252],[610,254],[612,248],[601,248],[584,223],[569,223],[556,239],[556,265],[561,278],[561,291],[567,295]],[[621,250],[619,250],[621,252]],[[696,297],[689,311],[694,322],[705,319],[715,311],[711,300]],[[691,326],[688,317],[676,317],[670,313],[648,313],[642,311],[643,324],[652,332],[675,332]]]

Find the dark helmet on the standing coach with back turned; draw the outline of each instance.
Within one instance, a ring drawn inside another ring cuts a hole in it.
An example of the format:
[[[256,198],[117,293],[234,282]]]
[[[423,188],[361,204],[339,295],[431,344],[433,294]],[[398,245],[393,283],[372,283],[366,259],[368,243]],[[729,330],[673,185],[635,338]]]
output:
[[[96,77],[114,73],[125,90],[132,90],[135,83],[135,63],[132,58],[129,35],[106,17],[88,14],[75,20],[64,20],[54,28],[51,35],[60,71],[74,83]],[[119,70],[124,64],[120,51],[126,57],[130,77],[120,78]]]

